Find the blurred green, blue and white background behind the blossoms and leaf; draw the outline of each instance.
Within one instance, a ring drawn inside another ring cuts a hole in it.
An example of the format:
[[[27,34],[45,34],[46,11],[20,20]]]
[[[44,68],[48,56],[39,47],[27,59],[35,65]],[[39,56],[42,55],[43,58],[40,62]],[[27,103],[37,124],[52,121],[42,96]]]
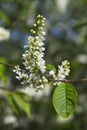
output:
[[[10,33],[8,39],[0,39],[0,61],[21,65],[24,45],[38,14],[46,17],[46,63],[57,67],[67,59],[71,63],[68,79],[87,77],[87,0],[0,0],[0,27]],[[27,88],[28,117],[24,112],[15,113],[9,104],[11,97],[4,95],[5,89],[10,93],[21,89],[12,69],[0,65],[0,130],[87,130],[87,82],[73,83],[78,104],[67,120],[55,112],[49,86],[39,94]]]

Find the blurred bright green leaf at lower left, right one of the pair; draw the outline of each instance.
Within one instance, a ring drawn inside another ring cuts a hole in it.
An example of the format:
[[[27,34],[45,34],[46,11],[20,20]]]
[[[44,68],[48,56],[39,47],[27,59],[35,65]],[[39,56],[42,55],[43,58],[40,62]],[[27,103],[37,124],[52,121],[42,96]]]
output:
[[[23,93],[18,93],[15,92],[13,94],[14,100],[18,104],[18,106],[24,110],[24,112],[27,114],[27,116],[30,116],[30,105],[29,103],[24,99],[24,94]]]

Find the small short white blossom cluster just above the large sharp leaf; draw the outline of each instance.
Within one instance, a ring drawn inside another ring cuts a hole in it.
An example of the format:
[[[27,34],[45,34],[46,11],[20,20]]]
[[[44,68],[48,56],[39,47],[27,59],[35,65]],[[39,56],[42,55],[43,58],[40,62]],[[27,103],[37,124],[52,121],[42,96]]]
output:
[[[56,75],[56,72],[51,70],[49,72],[49,75],[51,75],[54,80],[65,80],[66,76],[68,76],[70,73],[70,63],[67,60],[62,61],[61,65],[58,65],[58,73]],[[60,84],[61,82],[54,82],[54,85]]]

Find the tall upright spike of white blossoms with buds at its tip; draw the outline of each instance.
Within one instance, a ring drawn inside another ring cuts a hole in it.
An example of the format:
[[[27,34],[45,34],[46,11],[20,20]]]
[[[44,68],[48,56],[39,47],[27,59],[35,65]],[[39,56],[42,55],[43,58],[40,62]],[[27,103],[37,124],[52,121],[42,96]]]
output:
[[[21,84],[24,86],[32,86],[37,91],[43,89],[44,85],[48,82],[45,77],[44,25],[45,18],[42,15],[38,15],[34,29],[31,29],[33,36],[28,37],[28,45],[25,46],[26,51],[22,55],[24,68],[21,69],[17,65],[13,70],[17,74],[16,78],[21,80]]]

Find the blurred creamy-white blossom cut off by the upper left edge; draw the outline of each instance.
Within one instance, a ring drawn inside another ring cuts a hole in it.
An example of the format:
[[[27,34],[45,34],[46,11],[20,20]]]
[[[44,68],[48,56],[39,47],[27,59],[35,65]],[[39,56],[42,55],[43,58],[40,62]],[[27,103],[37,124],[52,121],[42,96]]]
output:
[[[10,37],[10,32],[5,28],[0,27],[0,41],[8,40],[9,37]]]

